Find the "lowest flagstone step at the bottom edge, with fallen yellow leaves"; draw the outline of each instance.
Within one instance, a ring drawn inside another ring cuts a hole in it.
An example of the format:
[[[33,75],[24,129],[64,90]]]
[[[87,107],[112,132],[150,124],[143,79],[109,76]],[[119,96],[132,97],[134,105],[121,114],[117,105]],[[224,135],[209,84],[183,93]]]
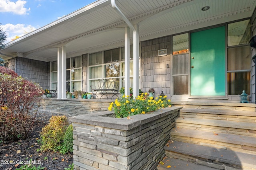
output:
[[[216,170],[216,168],[199,165],[195,164],[194,162],[171,158],[168,156],[166,156],[162,162],[164,164],[159,164],[157,167],[158,170]]]

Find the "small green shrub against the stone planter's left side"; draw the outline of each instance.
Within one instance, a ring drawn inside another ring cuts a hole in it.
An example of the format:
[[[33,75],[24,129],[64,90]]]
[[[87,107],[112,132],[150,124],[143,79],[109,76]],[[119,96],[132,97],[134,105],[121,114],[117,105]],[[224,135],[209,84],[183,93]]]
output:
[[[60,150],[61,154],[66,154],[67,152],[73,152],[73,125],[72,124],[70,124],[65,131],[63,144]]]

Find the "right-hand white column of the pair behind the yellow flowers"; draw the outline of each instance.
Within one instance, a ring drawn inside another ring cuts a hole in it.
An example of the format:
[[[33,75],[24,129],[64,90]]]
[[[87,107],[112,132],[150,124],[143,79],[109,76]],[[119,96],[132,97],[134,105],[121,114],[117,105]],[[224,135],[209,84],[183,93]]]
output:
[[[139,25],[134,25],[133,32],[133,97],[139,95]]]

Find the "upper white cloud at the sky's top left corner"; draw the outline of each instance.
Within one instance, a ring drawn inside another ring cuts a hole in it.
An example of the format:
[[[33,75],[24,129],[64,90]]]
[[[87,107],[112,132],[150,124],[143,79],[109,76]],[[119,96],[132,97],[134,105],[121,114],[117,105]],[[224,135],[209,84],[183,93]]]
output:
[[[11,2],[10,0],[0,0],[0,12],[12,12],[18,15],[25,15],[30,12],[30,8],[25,8],[25,0],[17,0],[16,2]]]

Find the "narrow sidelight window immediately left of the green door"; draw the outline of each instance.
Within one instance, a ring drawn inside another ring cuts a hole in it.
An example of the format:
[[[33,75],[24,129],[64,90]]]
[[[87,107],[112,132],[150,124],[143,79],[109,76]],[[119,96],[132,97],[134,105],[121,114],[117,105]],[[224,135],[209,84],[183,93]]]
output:
[[[172,37],[173,94],[188,94],[189,79],[188,33]]]

